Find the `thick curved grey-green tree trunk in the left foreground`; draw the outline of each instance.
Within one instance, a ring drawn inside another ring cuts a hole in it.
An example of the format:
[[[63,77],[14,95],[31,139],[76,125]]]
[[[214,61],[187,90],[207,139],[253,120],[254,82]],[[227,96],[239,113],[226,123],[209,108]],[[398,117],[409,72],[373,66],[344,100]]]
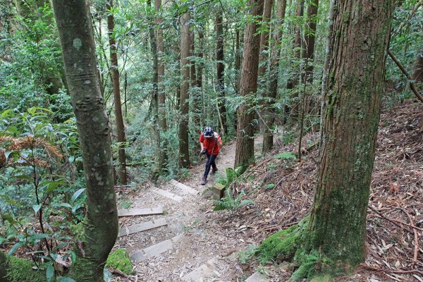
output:
[[[71,276],[102,282],[104,263],[118,234],[109,121],[99,90],[90,6],[53,0],[71,103],[78,125],[87,189],[87,214]]]

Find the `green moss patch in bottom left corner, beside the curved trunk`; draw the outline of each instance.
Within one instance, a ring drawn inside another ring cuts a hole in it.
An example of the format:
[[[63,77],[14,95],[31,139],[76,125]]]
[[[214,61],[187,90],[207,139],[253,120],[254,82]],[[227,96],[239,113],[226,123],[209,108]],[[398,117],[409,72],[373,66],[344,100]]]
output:
[[[13,256],[7,256],[6,259],[6,281],[8,282],[46,282],[44,271],[35,271],[32,269],[32,262],[27,259],[19,259]]]

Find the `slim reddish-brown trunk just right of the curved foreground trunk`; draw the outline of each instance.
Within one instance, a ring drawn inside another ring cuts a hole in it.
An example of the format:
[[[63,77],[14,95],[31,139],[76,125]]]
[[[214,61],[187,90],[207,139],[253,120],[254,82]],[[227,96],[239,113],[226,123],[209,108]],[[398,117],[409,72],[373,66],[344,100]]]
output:
[[[111,11],[113,8],[113,0],[109,0],[106,5],[106,9]],[[122,102],[121,102],[121,85],[119,82],[119,68],[118,68],[118,54],[116,50],[116,40],[114,39],[114,16],[109,13],[107,16],[107,29],[109,30],[109,48],[110,48],[110,63],[111,63],[111,77],[113,80],[113,93],[114,93],[114,111],[116,118],[116,132],[118,133],[118,159],[119,166],[119,178],[121,183],[126,185],[126,156],[125,156],[125,125],[123,124],[122,116]]]

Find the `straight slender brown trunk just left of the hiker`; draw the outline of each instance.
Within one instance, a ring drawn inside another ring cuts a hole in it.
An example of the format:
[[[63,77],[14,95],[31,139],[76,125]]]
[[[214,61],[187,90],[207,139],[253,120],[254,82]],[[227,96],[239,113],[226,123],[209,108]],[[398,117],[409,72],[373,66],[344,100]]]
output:
[[[188,146],[188,110],[190,88],[190,14],[184,13],[180,18],[180,123],[179,123],[179,163],[183,168],[190,166]]]

